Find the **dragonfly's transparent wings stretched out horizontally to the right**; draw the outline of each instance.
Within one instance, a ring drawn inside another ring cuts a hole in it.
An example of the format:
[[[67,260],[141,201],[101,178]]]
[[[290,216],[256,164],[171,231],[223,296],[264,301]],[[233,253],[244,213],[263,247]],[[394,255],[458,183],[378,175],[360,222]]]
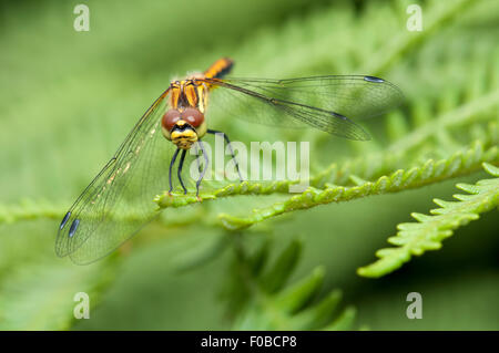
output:
[[[400,90],[374,76],[335,75],[288,80],[206,79],[213,101],[237,102],[235,116],[282,127],[314,126],[350,139],[369,139],[352,120],[383,114],[400,104]],[[256,103],[259,102],[261,104]],[[352,120],[350,120],[352,118]]]

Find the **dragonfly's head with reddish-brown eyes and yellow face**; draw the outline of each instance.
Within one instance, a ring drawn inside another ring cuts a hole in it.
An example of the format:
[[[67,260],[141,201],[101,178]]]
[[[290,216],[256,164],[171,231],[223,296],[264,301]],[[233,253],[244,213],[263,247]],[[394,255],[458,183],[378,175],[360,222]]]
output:
[[[161,121],[164,137],[173,142],[179,148],[189,149],[206,134],[206,122],[198,110],[170,110]]]

